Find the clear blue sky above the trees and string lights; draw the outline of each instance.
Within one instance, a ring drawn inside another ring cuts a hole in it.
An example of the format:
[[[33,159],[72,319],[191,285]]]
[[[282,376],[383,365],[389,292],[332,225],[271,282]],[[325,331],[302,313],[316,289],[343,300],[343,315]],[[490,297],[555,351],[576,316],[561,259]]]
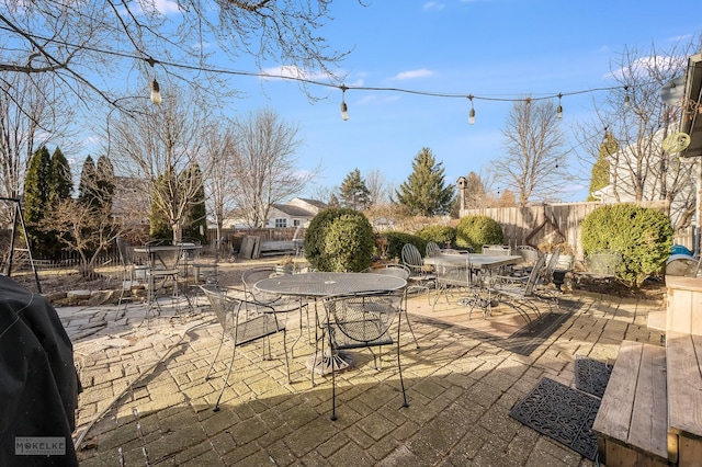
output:
[[[702,31],[702,3],[555,0],[352,0],[331,5],[335,21],[324,31],[333,48],[353,48],[342,64],[347,86],[401,88],[487,98],[544,95],[611,87],[610,61],[624,47],[668,49]],[[245,62],[230,69],[251,70]],[[275,64],[271,64],[273,68]],[[511,103],[475,101],[476,123],[467,123],[467,99],[386,91],[347,91],[350,118],[343,122],[341,92],[312,87],[310,103],[294,82],[233,77],[248,92],[233,116],[269,106],[299,124],[301,169],[324,167],[321,185],[339,185],[355,168],[380,170],[396,186],[411,172],[423,148],[443,162],[446,182],[480,172],[502,152]],[[602,93],[595,98],[603,98]],[[564,133],[589,119],[592,95],[563,99]],[[565,201],[584,200],[574,186]]]

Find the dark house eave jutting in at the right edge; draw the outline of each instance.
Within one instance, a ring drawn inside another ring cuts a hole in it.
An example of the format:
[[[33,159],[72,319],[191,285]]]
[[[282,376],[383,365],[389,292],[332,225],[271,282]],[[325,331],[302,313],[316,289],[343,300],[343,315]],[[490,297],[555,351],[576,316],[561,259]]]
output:
[[[680,153],[682,157],[702,156],[702,54],[693,55],[688,61],[684,82],[687,102],[680,130],[690,135],[690,146]],[[691,118],[690,118],[691,117]]]

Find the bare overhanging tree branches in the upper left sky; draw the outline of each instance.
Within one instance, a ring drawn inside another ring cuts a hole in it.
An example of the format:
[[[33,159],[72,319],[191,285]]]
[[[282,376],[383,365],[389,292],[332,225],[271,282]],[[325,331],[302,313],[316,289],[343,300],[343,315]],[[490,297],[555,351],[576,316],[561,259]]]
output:
[[[259,69],[275,62],[333,77],[347,53],[331,50],[317,33],[331,21],[330,3],[10,0],[0,5],[0,72],[45,75],[73,98],[97,96],[116,106],[135,84],[124,80],[133,69],[149,80],[168,73],[180,86],[226,92],[207,71],[223,54],[231,60],[253,57]],[[107,84],[110,78],[122,84]]]

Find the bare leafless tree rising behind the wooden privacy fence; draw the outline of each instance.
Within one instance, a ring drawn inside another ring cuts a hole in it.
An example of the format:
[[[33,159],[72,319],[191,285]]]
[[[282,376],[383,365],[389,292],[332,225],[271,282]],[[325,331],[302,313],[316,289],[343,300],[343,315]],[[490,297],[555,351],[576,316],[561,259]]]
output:
[[[506,153],[491,161],[495,176],[518,194],[520,206],[533,200],[553,201],[569,179],[554,103],[516,101],[502,134]]]

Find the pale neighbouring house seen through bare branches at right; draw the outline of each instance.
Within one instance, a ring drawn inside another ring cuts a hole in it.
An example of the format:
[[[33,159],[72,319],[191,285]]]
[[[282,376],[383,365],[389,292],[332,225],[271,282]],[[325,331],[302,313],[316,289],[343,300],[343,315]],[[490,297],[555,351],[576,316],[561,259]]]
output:
[[[694,209],[695,196],[695,164],[693,160],[679,158],[678,155],[669,155],[661,159],[663,129],[658,130],[648,141],[639,144],[637,150],[647,144],[648,157],[637,160],[634,148],[625,147],[610,157],[610,183],[609,185],[592,193],[603,204],[633,203],[636,202],[636,193],[633,183],[634,172],[630,167],[641,164],[638,173],[644,174],[644,186],[642,201],[658,202],[667,196],[661,190],[678,189],[675,197],[670,201],[670,221],[677,226],[681,219],[689,220],[690,209]],[[661,181],[665,182],[661,186]]]

